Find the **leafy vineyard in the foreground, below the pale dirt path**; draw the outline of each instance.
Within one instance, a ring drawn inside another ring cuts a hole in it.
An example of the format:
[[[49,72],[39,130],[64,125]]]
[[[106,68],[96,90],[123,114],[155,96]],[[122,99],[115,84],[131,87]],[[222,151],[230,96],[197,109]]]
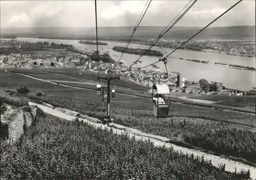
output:
[[[37,118],[17,144],[1,143],[1,179],[249,179],[224,166],[86,123]]]

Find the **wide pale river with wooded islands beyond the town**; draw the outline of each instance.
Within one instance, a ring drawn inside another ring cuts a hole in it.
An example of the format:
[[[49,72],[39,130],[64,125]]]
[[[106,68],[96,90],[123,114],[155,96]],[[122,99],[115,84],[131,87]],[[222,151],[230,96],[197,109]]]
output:
[[[37,41],[49,41],[55,43],[63,43],[63,44],[73,44],[74,47],[79,48],[79,50],[90,51],[96,50],[96,45],[91,44],[81,44],[78,43],[78,40],[64,40],[64,39],[39,39],[39,38],[17,38],[20,41],[29,41],[29,42],[37,42]],[[103,41],[107,42],[108,46],[98,46],[98,50],[100,53],[104,53],[105,51],[109,51],[110,56],[114,60],[118,60],[121,55],[120,52],[113,51],[112,48],[114,46],[125,46],[125,42],[115,42],[115,41]],[[147,48],[148,46],[142,44],[134,44],[130,43],[129,47],[134,48]],[[103,50],[102,50],[103,49]],[[161,48],[153,47],[152,50],[161,51],[164,56],[167,53],[173,51],[173,49],[169,48]],[[167,53],[165,53],[167,52]],[[117,56],[114,56],[117,55]],[[186,58],[186,59],[198,59],[198,60],[208,60],[209,62],[224,62],[227,64],[239,64],[244,66],[253,66],[256,67],[255,57],[240,57],[240,56],[232,56],[218,53],[210,53],[210,52],[198,52],[198,51],[186,51],[186,50],[177,50],[172,55],[172,57],[176,58]],[[139,55],[134,54],[123,54],[122,60],[126,62],[126,65],[130,65],[132,62],[137,60]],[[153,56],[142,56],[141,63],[135,64],[136,67],[143,67],[152,62],[155,62],[159,59],[159,57]],[[207,81],[218,81],[222,82],[224,86],[233,89],[241,89],[248,90],[252,89],[252,87],[256,86],[256,72],[249,70],[241,70],[241,69],[233,69],[227,68],[224,66],[218,66],[213,64],[205,64],[181,59],[168,58],[168,70],[180,72],[182,76],[189,81],[199,81],[201,78],[206,79]],[[164,71],[164,64],[159,62],[157,65]],[[146,68],[148,70],[156,70],[152,66]],[[170,73],[173,76],[176,74]]]

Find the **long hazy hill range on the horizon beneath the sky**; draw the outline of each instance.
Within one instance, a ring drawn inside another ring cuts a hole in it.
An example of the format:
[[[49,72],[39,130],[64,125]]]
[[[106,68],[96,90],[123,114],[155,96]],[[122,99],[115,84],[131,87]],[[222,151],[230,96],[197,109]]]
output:
[[[98,27],[100,38],[129,38],[134,27]],[[156,38],[165,27],[138,27],[134,38]],[[163,37],[189,38],[202,27],[173,27]],[[95,28],[2,28],[1,35],[15,35],[17,37],[66,37],[66,38],[95,38]],[[255,26],[210,27],[202,31],[195,38],[204,39],[255,39]]]

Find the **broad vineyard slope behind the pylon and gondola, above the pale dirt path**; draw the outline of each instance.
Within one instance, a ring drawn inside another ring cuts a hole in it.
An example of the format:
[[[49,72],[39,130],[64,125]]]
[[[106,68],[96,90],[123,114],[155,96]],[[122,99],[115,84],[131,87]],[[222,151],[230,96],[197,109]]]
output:
[[[62,87],[12,73],[4,74],[9,76],[0,77],[4,89],[16,89],[25,83],[31,92],[40,90],[47,93],[47,97],[31,95],[24,98],[41,100],[55,107],[68,108],[99,119],[106,116],[101,110],[101,98],[95,91]],[[171,104],[169,114],[167,119],[155,119],[152,100],[149,98],[116,94],[111,99],[111,118],[117,124],[256,164],[255,115],[178,103]],[[186,120],[185,127],[179,124],[183,119]]]

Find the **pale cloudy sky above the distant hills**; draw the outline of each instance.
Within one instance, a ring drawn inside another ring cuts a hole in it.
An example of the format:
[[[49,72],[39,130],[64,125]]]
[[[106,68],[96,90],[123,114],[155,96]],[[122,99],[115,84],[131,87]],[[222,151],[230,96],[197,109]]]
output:
[[[147,1],[97,1],[99,27],[135,26]],[[166,26],[189,1],[153,0],[141,26]],[[237,1],[199,0],[176,26],[207,25]],[[95,2],[2,1],[4,27],[95,27]],[[244,0],[212,26],[255,26],[255,1]]]

